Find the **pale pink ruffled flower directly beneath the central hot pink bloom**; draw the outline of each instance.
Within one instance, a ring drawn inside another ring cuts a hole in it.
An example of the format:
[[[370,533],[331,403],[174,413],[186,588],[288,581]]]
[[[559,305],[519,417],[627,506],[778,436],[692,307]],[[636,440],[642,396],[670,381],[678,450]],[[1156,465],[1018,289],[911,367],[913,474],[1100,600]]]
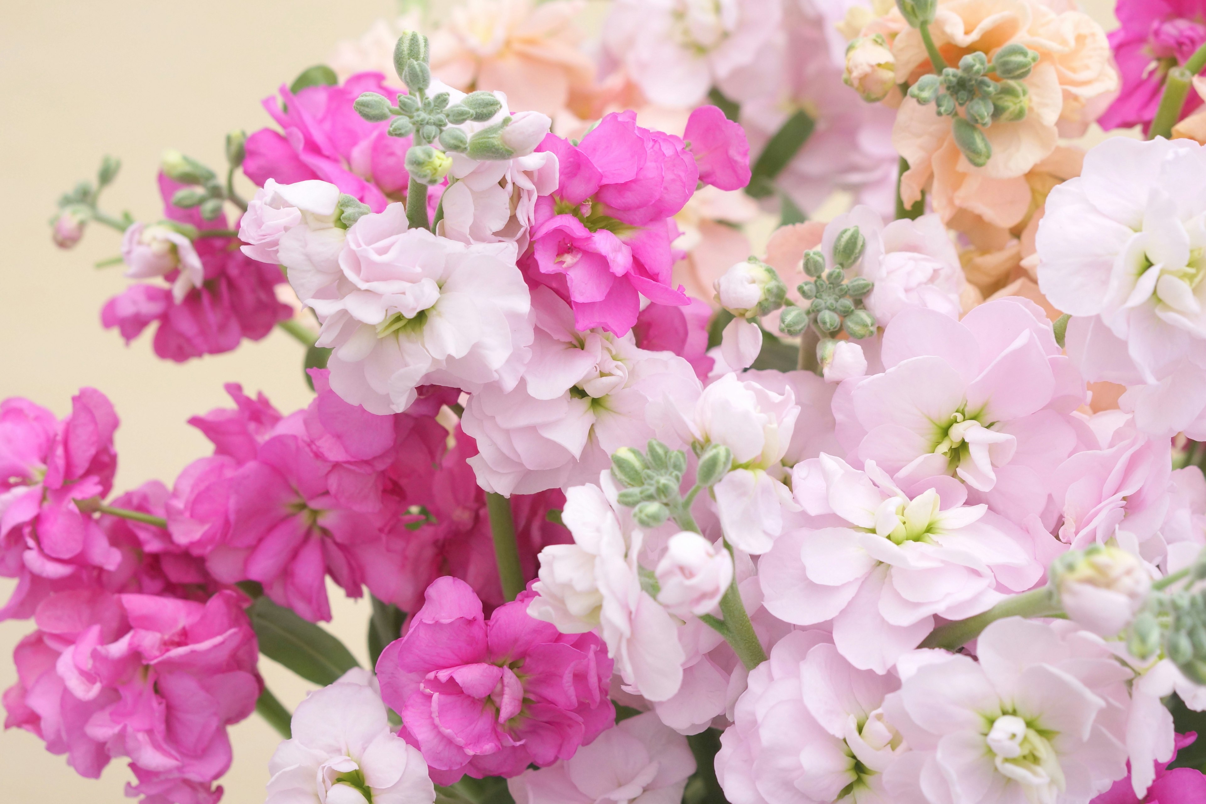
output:
[[[651,400],[668,394],[689,404],[699,393],[686,360],[637,348],[631,334],[576,330],[569,305],[549,288],[532,292],[532,306],[535,336],[522,380],[473,393],[461,421],[480,450],[469,459],[478,482],[508,495],[593,480],[613,452],[654,438]]]

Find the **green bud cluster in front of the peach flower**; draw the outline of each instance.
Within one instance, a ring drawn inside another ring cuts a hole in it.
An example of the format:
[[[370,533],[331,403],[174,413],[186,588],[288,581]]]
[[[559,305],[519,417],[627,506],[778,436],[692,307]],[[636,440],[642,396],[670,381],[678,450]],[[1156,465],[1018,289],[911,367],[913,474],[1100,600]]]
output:
[[[908,94],[923,106],[933,104],[939,116],[953,117],[955,145],[967,162],[983,168],[993,158],[993,146],[982,129],[1025,119],[1030,90],[1021,80],[1037,60],[1038,53],[1019,43],[1002,47],[991,63],[984,53],[968,53],[958,69],[921,76]]]

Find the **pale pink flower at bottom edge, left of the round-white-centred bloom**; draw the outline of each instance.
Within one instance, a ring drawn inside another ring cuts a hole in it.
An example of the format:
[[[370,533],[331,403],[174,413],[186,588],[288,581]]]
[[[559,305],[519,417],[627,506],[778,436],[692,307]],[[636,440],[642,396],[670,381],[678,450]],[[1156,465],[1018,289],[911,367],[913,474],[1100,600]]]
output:
[[[750,671],[720,738],[725,797],[733,804],[890,800],[883,774],[907,746],[882,705],[898,686],[895,676],[851,667],[825,632],[788,634]]]

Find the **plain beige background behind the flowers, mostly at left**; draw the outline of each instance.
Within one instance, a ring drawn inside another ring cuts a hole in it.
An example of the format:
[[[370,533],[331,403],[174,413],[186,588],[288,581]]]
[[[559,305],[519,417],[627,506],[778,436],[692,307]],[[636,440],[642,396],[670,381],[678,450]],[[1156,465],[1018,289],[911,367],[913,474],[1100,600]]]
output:
[[[1107,22],[1113,2],[1085,5]],[[123,421],[118,491],[156,477],[170,485],[185,464],[209,453],[185,421],[224,405],[224,382],[263,389],[286,412],[304,406],[302,350],[274,333],[234,353],[176,365],[153,356],[150,338],[125,347],[100,328],[99,311],[127,280],[121,268],[92,268],[118,253],[119,235],[94,227],[78,248],[58,251],[46,225],[54,199],[111,153],[124,168],[103,206],[158,217],[153,178],[164,148],[221,166],[228,129],[270,122],[262,98],[393,7],[390,0],[0,0],[0,398],[28,397],[64,415],[80,386],[109,394]],[[11,586],[0,579],[0,598]],[[333,629],[365,662],[367,605],[332,599]],[[12,647],[31,629],[0,623],[0,689],[16,681]],[[286,705],[302,700],[305,682],[268,659],[262,668]],[[263,802],[279,738],[257,716],[230,735],[235,759],[224,800]],[[82,779],[34,735],[0,732],[5,804],[117,804],[128,800],[122,787],[130,779],[124,761],[99,781]]]

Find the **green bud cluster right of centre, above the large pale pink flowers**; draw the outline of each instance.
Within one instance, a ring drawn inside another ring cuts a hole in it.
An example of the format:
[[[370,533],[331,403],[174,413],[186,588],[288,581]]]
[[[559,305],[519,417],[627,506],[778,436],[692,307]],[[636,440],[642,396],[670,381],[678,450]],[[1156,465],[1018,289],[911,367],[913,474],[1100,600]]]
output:
[[[838,233],[833,241],[833,268],[827,269],[822,252],[806,252],[802,268],[812,278],[796,289],[808,304],[783,311],[779,330],[800,335],[812,324],[822,339],[843,329],[855,340],[874,335],[876,317],[862,306],[874,283],[862,276],[848,276],[862,259],[866,247],[867,240],[859,227],[850,227]]]

